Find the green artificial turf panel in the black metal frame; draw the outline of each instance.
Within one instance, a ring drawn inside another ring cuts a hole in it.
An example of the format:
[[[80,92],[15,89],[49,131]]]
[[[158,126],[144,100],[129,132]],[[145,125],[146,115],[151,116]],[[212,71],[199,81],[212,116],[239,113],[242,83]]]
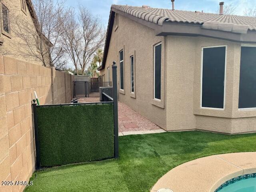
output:
[[[36,106],[40,167],[114,157],[113,104]]]

